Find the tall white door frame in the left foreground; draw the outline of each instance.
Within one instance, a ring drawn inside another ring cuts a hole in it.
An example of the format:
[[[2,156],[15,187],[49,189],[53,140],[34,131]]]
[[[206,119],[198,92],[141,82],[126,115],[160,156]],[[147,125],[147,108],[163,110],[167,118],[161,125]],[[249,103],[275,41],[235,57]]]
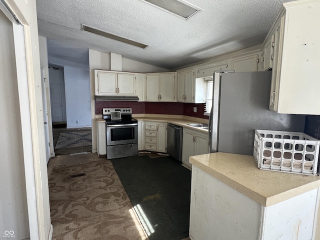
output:
[[[11,12],[21,24],[8,17],[13,25],[30,239],[50,240],[52,225],[35,0],[1,0],[0,5],[5,15]],[[8,11],[3,10],[4,5]]]

